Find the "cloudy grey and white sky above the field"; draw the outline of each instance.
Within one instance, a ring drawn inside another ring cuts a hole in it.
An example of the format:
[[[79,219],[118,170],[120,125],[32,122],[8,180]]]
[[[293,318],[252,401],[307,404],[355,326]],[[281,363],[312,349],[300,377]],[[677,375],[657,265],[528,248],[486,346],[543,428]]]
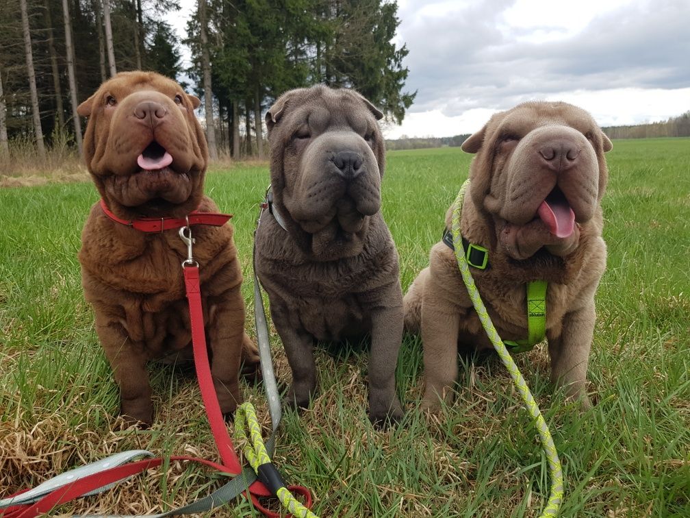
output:
[[[168,16],[184,35],[195,0]],[[395,43],[417,91],[386,138],[473,133],[497,111],[545,99],[601,126],[690,111],[690,0],[397,0]]]

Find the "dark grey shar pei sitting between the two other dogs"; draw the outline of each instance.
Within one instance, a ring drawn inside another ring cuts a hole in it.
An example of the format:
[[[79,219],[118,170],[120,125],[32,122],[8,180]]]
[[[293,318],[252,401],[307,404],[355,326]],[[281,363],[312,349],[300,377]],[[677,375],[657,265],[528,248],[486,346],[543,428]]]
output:
[[[256,235],[257,274],[293,374],[286,404],[306,407],[315,394],[315,340],[368,334],[369,416],[380,424],[402,416],[403,326],[397,252],[380,212],[381,117],[351,90],[279,97],[266,114],[273,201]]]

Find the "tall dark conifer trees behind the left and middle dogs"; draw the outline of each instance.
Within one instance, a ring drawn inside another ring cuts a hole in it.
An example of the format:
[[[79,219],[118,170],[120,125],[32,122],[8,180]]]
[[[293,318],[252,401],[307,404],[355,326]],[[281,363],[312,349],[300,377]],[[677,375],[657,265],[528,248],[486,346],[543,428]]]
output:
[[[408,50],[388,0],[197,0],[179,41],[175,0],[0,0],[0,153],[81,146],[76,106],[122,70],[192,79],[210,154],[264,155],[263,117],[290,88],[353,87],[395,122]],[[183,68],[181,44],[191,50]],[[189,88],[188,88],[189,90]]]

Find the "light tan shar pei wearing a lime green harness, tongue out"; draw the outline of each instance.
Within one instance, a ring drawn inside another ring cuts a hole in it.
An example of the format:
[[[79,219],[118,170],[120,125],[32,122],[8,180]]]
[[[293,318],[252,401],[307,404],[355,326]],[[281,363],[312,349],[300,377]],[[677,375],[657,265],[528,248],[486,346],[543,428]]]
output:
[[[462,149],[477,156],[460,230],[489,250],[488,268],[471,267],[489,316],[503,340],[526,338],[526,283],[546,280],[551,379],[588,406],[594,293],[607,254],[600,205],[608,174],[604,152],[611,141],[580,108],[529,102],[493,115]],[[431,249],[429,266],[404,306],[406,329],[421,328],[424,343],[422,407],[435,408],[440,396],[452,398],[458,345],[493,348],[444,242]]]

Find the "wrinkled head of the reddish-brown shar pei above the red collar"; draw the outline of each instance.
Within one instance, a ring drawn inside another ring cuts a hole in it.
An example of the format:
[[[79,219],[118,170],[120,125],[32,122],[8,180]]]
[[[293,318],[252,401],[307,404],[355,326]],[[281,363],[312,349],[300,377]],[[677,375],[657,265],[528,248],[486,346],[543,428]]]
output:
[[[88,169],[124,218],[181,216],[203,195],[208,150],[199,99],[156,73],[119,73],[79,105]]]

